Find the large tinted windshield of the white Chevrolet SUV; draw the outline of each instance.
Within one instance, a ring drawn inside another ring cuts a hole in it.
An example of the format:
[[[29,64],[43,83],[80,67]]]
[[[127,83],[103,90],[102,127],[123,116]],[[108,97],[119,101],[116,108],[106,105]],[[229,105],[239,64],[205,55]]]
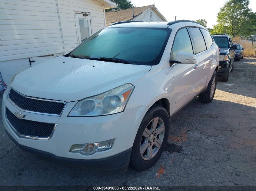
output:
[[[157,65],[170,33],[171,29],[167,28],[105,28],[81,43],[70,56],[117,58],[137,65]]]

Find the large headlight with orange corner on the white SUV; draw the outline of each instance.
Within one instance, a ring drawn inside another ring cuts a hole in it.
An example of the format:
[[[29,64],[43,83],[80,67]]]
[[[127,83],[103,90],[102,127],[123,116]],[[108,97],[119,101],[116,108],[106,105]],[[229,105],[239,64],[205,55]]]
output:
[[[124,84],[102,94],[80,100],[68,116],[101,116],[124,111],[134,86]]]

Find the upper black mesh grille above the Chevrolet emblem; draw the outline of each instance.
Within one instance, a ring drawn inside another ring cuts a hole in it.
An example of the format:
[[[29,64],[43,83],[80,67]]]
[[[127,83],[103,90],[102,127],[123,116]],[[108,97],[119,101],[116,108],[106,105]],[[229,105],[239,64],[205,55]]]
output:
[[[21,109],[39,113],[60,115],[65,107],[65,103],[63,102],[44,101],[24,97],[13,89],[10,90],[9,98]]]

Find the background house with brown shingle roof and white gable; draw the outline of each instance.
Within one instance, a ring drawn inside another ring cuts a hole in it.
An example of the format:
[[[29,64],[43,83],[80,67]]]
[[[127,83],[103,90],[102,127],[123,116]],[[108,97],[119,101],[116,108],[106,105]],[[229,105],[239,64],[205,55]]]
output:
[[[116,11],[112,9],[106,12],[106,25],[109,26],[121,21],[167,21],[165,17],[158,11],[155,5],[148,5],[144,7],[135,7],[128,9],[121,9]]]

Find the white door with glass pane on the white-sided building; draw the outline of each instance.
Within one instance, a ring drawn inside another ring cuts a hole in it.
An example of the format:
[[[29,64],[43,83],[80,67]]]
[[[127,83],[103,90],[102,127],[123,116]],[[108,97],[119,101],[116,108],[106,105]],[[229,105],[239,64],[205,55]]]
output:
[[[78,44],[91,36],[91,18],[90,15],[83,16],[83,14],[76,13],[76,25],[78,32]]]

